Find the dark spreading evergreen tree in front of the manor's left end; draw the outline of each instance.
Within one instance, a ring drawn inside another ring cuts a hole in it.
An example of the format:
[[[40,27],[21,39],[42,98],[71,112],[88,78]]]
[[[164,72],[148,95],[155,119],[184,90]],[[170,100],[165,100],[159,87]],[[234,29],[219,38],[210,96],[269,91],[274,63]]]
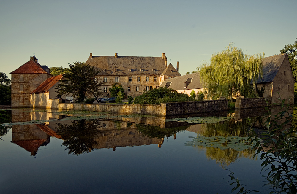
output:
[[[98,87],[102,85],[102,82],[95,79],[99,72],[94,66],[86,65],[84,62],[69,64],[69,72],[63,75],[61,87],[56,88],[58,89],[57,96],[72,94],[77,103],[82,103],[87,95],[100,96],[101,91]]]

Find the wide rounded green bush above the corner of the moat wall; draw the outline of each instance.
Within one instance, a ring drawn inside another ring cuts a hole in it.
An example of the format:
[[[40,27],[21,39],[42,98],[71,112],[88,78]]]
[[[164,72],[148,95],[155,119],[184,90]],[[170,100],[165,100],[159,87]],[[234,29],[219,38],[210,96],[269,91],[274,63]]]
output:
[[[165,102],[185,102],[190,101],[187,94],[178,93],[176,90],[159,87],[153,90],[144,91],[140,96],[134,98],[134,104],[161,104]]]

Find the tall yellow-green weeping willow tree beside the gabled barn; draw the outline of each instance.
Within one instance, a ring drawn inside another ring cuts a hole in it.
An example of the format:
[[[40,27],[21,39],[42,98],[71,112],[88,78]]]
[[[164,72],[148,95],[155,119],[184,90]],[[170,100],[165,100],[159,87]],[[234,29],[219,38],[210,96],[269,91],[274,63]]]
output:
[[[211,63],[203,63],[200,81],[208,88],[213,99],[226,96],[232,99],[240,95],[255,97],[256,83],[262,79],[262,58],[264,53],[244,54],[243,50],[232,43],[221,53],[211,56]],[[251,87],[252,82],[252,87]]]

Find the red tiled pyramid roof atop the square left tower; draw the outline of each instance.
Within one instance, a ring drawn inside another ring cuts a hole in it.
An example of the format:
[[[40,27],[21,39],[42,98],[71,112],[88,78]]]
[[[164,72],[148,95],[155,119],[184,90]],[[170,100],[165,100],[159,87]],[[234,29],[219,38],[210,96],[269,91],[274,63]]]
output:
[[[42,69],[39,63],[30,60],[10,74],[48,74],[48,72]]]

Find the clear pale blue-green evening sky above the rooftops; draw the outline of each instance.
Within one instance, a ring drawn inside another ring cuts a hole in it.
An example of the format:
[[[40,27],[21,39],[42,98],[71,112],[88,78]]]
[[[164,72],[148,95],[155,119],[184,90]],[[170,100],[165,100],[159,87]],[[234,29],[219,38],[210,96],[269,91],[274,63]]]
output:
[[[68,67],[93,56],[161,56],[195,71],[230,42],[249,55],[279,54],[297,38],[297,0],[0,1],[0,72],[35,56]]]

